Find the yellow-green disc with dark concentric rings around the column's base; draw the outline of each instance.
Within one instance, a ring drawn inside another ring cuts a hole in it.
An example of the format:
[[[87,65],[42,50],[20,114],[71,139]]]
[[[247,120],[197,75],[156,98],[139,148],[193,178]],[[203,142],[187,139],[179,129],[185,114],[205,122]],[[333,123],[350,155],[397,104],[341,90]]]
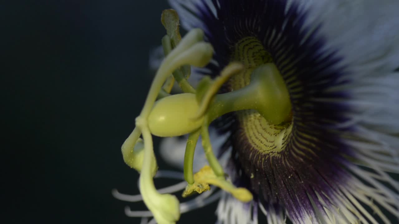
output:
[[[255,37],[246,37],[238,41],[231,60],[240,61],[245,65],[243,73],[229,80],[231,90],[247,86],[251,81],[252,71],[259,65],[273,63],[271,55]],[[292,129],[291,122],[269,124],[256,110],[240,110],[235,114],[245,135],[242,137],[249,141],[253,149],[267,155],[279,153],[284,149]]]

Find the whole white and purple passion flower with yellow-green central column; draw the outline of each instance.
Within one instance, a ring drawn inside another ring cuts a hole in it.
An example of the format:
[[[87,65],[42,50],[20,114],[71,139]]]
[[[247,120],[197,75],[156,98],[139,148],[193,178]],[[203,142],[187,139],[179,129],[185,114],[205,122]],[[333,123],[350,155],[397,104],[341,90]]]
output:
[[[180,39],[163,12],[166,57],[122,146],[141,195],[113,192],[149,211],[128,216],[175,223],[219,200],[224,224],[258,223],[259,210],[268,224],[399,221],[399,2],[170,3],[190,31]],[[152,135],[183,173],[155,173]],[[184,181],[157,191],[153,177]]]

